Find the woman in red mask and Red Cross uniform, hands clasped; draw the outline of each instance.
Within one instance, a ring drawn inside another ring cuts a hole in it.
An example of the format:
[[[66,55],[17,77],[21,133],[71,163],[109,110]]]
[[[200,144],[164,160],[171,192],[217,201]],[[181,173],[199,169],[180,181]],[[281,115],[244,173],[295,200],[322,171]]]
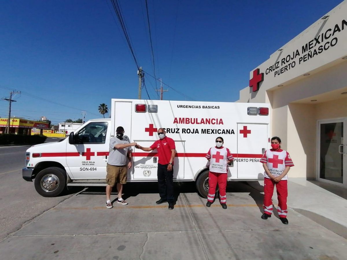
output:
[[[294,166],[289,153],[281,149],[281,139],[271,138],[272,149],[266,150],[260,162],[264,167],[264,214],[262,219],[268,219],[272,214],[272,194],[276,185],[278,199],[278,216],[283,224],[288,224],[287,219],[287,173],[291,166]]]

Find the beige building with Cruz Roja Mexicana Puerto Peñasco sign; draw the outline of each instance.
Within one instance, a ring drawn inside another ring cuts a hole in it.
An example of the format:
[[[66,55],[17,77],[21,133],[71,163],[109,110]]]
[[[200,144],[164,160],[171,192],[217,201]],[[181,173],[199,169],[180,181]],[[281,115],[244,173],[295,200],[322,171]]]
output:
[[[290,177],[347,188],[347,0],[252,70],[238,102],[271,104]]]

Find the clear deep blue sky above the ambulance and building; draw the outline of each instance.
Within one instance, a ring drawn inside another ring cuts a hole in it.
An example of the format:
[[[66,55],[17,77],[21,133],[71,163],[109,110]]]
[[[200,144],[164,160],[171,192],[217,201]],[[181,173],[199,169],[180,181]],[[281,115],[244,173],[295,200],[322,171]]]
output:
[[[145,0],[118,2],[158,99]],[[236,101],[249,71],[341,2],[147,0],[155,76],[177,90],[164,99]],[[137,67],[110,0],[3,0],[0,22],[0,98],[23,92],[11,115],[58,123],[86,110],[86,119],[100,118],[100,103],[138,97]],[[0,116],[8,116],[7,101]]]

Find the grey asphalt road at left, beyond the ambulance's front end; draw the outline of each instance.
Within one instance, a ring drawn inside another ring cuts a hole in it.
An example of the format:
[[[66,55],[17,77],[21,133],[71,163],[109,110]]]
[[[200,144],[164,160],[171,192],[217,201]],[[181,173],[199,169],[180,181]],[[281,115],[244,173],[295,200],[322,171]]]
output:
[[[53,141],[57,139],[46,140]],[[72,196],[70,193],[56,198],[44,198],[36,192],[33,182],[23,180],[25,151],[29,147],[0,147],[0,240],[18,230],[28,220]]]

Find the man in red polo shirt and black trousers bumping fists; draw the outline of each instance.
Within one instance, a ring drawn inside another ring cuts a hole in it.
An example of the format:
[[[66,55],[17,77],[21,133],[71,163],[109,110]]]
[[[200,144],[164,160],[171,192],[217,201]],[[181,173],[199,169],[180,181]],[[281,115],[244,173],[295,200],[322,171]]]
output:
[[[176,155],[175,141],[167,137],[163,128],[158,129],[159,140],[156,140],[150,147],[135,147],[143,151],[158,150],[158,187],[160,200],[155,203],[169,203],[169,209],[174,209],[174,159]]]

